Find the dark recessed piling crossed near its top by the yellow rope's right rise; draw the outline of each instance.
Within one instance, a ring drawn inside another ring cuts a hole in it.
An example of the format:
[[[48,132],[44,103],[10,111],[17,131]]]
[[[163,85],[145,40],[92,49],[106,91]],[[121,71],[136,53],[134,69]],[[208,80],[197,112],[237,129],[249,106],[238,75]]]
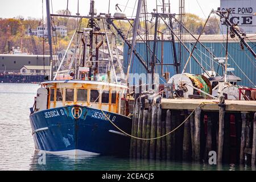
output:
[[[184,119],[188,118],[188,111],[185,110],[184,111]],[[190,156],[189,156],[189,149],[191,147],[191,132],[190,132],[190,121],[189,118],[187,119],[187,121],[184,123],[184,134],[183,134],[183,152],[182,152],[182,158],[183,160],[189,160]]]

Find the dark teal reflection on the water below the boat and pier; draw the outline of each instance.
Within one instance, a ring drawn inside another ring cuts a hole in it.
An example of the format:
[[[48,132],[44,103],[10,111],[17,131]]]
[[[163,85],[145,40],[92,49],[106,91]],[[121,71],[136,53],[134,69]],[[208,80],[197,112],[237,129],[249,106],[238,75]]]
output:
[[[209,165],[207,163],[167,162],[166,160],[147,160],[116,158],[114,156],[57,156],[46,154],[46,164],[38,163],[38,153],[31,158],[30,170],[142,170],[142,171],[235,171],[251,170],[249,166]]]

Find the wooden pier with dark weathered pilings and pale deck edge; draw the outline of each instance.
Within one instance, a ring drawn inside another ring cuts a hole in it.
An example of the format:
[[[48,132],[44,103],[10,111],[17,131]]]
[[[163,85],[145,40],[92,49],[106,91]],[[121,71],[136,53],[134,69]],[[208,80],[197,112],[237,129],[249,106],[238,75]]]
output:
[[[135,96],[130,157],[255,165],[256,101]]]

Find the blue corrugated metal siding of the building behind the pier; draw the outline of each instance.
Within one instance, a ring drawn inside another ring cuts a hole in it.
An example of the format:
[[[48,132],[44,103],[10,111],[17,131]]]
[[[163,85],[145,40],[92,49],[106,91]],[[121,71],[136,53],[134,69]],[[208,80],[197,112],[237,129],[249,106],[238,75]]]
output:
[[[193,45],[189,43],[185,43],[188,48],[192,50]],[[209,47],[211,50],[213,50],[214,55],[217,57],[225,57],[225,42],[219,42],[219,43],[203,43],[206,47]],[[256,43],[249,43],[250,46],[254,49],[256,52]],[[150,42],[150,47],[153,47],[153,42]],[[211,56],[207,51],[200,46],[200,44],[197,44],[197,48],[195,49],[195,52],[193,55],[196,56],[196,58],[202,63],[202,65],[210,70],[211,65]],[[238,77],[241,77],[242,81],[239,83],[240,85],[245,85],[245,86],[255,86],[256,84],[256,68],[255,68],[255,59],[253,55],[247,51],[245,47],[245,51],[241,50],[240,43],[229,43],[228,44],[228,50],[229,50],[229,60],[228,64],[230,64],[231,68],[235,68],[234,74]],[[176,43],[176,49],[179,48],[179,43]],[[127,46],[124,46],[124,60],[125,63],[127,63],[127,52],[128,48]],[[146,60],[146,46],[144,43],[137,43],[137,50],[141,55],[144,57]],[[201,50],[201,51],[200,51]],[[179,51],[177,50],[177,55],[179,56]],[[247,55],[246,55],[247,54]],[[158,59],[161,60],[161,42],[158,42],[157,46],[157,56]],[[189,56],[189,53],[186,51],[186,49],[182,46],[181,49],[181,70],[184,67],[185,62],[187,61]],[[201,57],[203,59],[201,59]],[[151,58],[150,58],[151,60]],[[234,63],[236,62],[236,63]],[[173,59],[173,52],[172,52],[172,44],[170,42],[164,42],[164,63],[174,63]],[[149,63],[148,63],[149,64]],[[241,70],[246,74],[246,76],[251,80],[251,83],[248,78],[240,71],[240,69],[237,67],[241,68]],[[125,65],[127,68],[127,65]],[[218,64],[213,63],[213,67],[215,71],[218,69]],[[160,83],[164,82],[164,78],[161,76],[161,67],[160,65],[156,66],[156,73],[159,73],[160,76]],[[163,72],[170,72],[170,76],[174,75],[174,67],[171,65],[164,66],[164,71]],[[200,74],[201,73],[201,68],[200,66],[196,63],[196,61],[191,58],[191,62],[188,64],[186,72],[191,72],[193,74]],[[218,69],[218,73],[222,75],[222,69]],[[144,67],[139,63],[139,60],[135,57],[133,66],[131,68],[131,73],[146,73],[146,70]]]

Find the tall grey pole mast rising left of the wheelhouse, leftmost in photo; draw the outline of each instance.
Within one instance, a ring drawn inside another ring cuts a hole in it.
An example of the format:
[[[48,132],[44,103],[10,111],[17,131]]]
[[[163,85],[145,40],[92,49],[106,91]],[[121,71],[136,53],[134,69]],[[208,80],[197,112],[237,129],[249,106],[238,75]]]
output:
[[[52,80],[52,78],[53,78],[52,27],[51,27],[51,14],[50,14],[49,0],[46,0],[46,11],[47,11],[47,30],[48,30],[49,55],[50,55],[50,63],[51,63],[50,80]],[[44,38],[44,35],[43,35],[43,38]]]

